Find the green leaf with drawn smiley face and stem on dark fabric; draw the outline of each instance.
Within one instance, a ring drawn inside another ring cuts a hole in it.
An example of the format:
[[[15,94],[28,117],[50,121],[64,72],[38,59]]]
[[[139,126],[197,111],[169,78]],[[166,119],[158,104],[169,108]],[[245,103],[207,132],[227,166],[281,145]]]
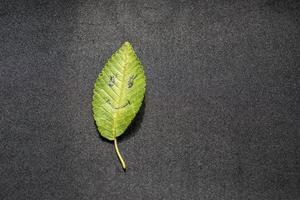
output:
[[[117,137],[125,132],[139,111],[145,86],[143,66],[129,42],[111,56],[94,85],[92,108],[98,131],[114,141],[124,170],[126,164],[119,152]]]

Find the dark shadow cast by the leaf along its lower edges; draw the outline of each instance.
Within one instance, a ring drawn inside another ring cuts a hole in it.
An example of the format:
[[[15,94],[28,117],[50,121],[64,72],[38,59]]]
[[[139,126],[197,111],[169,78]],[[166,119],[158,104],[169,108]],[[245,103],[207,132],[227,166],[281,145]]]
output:
[[[132,120],[131,124],[128,126],[128,128],[126,129],[126,131],[120,135],[118,137],[118,142],[123,142],[126,141],[132,137],[134,137],[136,135],[136,133],[138,132],[138,130],[141,128],[141,124],[143,122],[144,119],[144,114],[145,114],[145,108],[146,108],[146,98],[144,98],[141,108],[139,109],[138,113],[136,114],[135,118]],[[96,130],[98,130],[97,128],[97,124],[94,121],[94,125]],[[101,134],[98,132],[98,136],[102,141],[111,143],[112,141],[107,140],[106,138],[102,137]]]

